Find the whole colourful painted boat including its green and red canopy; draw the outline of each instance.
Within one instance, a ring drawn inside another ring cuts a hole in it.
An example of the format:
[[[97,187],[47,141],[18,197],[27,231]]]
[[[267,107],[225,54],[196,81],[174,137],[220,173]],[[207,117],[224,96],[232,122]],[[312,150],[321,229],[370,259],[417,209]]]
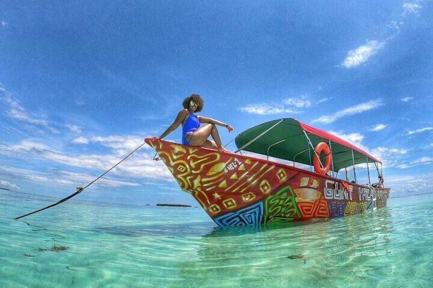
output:
[[[219,226],[346,217],[384,207],[390,195],[379,160],[294,118],[245,130],[235,138],[235,152],[145,142]]]

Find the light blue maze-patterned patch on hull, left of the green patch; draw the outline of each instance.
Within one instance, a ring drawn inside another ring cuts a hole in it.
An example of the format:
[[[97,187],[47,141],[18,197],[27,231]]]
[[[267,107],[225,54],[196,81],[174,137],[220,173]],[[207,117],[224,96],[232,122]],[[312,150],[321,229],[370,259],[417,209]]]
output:
[[[257,226],[262,223],[263,203],[257,202],[236,212],[213,219],[219,226]]]

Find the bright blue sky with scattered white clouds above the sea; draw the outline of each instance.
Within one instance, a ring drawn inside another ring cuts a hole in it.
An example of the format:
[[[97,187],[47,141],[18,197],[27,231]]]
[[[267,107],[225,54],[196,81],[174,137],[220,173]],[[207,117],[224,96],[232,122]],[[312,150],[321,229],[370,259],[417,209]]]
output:
[[[66,197],[197,93],[200,115],[234,127],[224,144],[293,117],[381,160],[394,196],[431,192],[432,51],[431,0],[4,0],[0,188]],[[197,205],[153,156],[143,146],[77,198]]]

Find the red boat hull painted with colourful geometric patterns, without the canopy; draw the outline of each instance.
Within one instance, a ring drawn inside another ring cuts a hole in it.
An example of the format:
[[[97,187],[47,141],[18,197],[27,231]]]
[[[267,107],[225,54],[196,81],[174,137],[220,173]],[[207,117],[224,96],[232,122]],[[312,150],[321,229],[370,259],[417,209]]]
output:
[[[220,226],[344,217],[387,205],[389,188],[372,188],[300,168],[153,138],[180,188]]]

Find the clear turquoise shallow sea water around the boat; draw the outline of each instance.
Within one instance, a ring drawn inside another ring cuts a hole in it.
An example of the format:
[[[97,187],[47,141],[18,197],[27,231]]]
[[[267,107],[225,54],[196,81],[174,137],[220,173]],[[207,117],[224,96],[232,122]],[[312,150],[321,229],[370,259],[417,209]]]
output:
[[[76,200],[13,220],[57,200],[0,190],[1,287],[433,285],[433,194],[250,228],[216,227],[201,208]],[[54,244],[68,249],[39,250]]]

